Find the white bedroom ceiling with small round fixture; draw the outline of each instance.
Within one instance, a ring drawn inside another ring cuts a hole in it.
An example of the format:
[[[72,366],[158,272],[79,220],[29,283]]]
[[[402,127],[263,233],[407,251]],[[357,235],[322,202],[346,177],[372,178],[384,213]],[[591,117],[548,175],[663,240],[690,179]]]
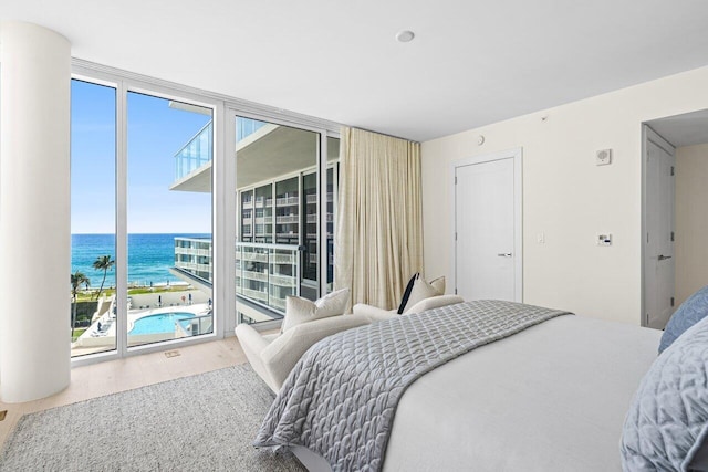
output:
[[[708,64],[705,0],[0,0],[0,19],[74,57],[415,140]]]

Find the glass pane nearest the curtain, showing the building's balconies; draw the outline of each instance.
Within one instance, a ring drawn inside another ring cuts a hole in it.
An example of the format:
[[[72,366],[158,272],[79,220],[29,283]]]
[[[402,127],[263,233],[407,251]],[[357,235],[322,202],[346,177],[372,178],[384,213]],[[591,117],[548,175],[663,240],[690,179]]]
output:
[[[238,321],[279,319],[287,296],[319,296],[320,134],[235,119]]]

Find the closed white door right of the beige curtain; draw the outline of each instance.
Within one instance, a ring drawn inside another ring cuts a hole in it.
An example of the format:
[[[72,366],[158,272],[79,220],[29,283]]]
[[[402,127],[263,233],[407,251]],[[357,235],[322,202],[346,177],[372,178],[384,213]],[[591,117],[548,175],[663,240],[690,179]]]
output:
[[[455,279],[465,300],[521,302],[520,157],[455,168]]]

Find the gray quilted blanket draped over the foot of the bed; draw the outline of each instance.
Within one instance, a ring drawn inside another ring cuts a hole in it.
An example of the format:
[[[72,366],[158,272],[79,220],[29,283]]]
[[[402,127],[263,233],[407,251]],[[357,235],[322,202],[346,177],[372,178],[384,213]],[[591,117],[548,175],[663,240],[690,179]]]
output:
[[[477,301],[330,336],[290,373],[254,445],[304,445],[334,471],[378,471],[398,399],[418,377],[563,314],[568,312]]]

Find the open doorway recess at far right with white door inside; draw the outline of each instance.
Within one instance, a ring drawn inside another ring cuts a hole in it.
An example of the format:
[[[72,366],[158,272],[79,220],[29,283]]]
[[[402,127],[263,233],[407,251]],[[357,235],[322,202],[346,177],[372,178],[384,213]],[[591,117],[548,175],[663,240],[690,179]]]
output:
[[[708,111],[647,122],[643,136],[642,325],[663,329],[708,285]]]

